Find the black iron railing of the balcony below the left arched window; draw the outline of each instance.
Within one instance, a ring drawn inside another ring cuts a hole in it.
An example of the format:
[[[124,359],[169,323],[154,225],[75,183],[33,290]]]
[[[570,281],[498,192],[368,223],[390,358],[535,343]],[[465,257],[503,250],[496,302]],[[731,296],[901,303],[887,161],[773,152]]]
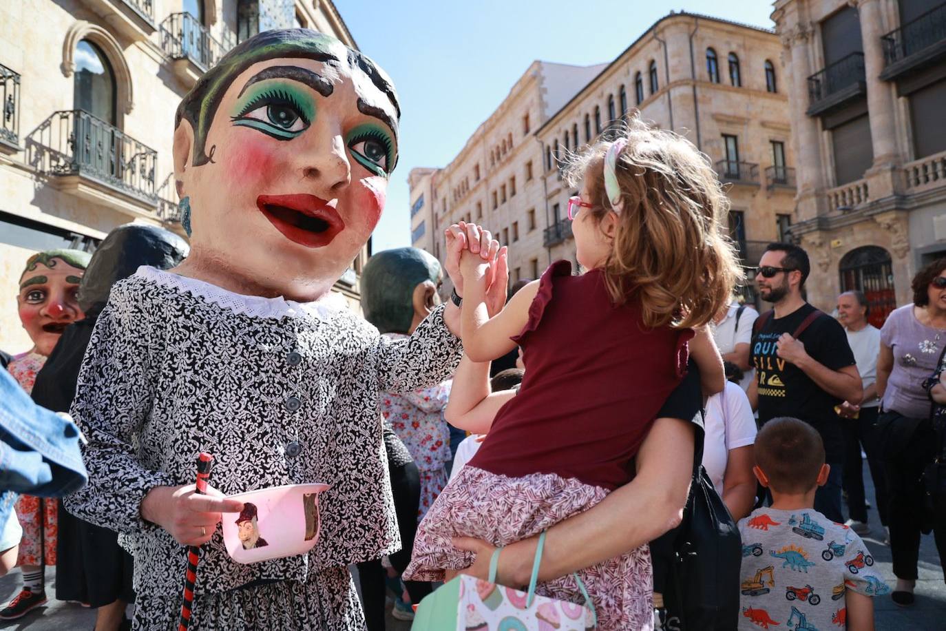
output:
[[[156,203],[158,153],[82,110],[56,112],[30,134],[32,163],[49,175],[79,175]]]

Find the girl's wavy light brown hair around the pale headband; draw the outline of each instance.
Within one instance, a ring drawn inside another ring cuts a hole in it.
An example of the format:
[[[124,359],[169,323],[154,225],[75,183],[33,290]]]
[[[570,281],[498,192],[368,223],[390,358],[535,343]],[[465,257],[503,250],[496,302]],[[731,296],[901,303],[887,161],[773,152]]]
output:
[[[743,279],[719,178],[707,156],[673,131],[635,117],[617,134],[627,144],[616,168],[623,209],[603,269],[611,298],[616,305],[638,300],[650,327],[707,324]],[[582,212],[596,223],[614,212],[604,192],[611,144],[598,140],[566,167],[570,186],[584,181],[594,207]]]

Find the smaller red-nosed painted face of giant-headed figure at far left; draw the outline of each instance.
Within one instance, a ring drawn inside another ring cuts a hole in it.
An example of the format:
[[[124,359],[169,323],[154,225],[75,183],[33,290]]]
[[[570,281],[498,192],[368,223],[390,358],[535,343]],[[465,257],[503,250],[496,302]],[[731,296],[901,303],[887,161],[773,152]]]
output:
[[[90,258],[78,250],[50,250],[26,261],[16,302],[20,322],[40,355],[52,353],[65,327],[82,319],[76,296]]]

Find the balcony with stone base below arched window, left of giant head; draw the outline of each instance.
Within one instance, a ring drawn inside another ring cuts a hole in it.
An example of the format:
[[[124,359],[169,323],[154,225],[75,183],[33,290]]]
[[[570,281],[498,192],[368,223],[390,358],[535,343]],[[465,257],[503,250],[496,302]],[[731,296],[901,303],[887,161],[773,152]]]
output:
[[[54,187],[153,218],[157,151],[104,120],[82,110],[56,112],[30,134],[27,148]]]

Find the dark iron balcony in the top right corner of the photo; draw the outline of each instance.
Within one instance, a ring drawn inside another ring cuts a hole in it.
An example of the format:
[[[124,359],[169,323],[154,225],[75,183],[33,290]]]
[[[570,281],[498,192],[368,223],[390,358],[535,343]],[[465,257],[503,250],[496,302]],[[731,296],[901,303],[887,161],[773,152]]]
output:
[[[881,38],[885,67],[881,79],[899,79],[946,57],[946,4]]]

